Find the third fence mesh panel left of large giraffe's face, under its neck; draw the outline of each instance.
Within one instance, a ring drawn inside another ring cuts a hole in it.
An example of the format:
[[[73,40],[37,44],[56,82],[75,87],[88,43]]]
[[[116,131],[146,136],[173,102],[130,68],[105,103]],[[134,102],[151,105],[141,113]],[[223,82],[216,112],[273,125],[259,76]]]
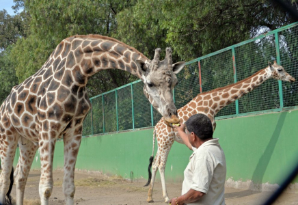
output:
[[[104,107],[105,111],[105,132],[117,131],[117,115],[116,115],[116,93],[109,92],[104,95]]]

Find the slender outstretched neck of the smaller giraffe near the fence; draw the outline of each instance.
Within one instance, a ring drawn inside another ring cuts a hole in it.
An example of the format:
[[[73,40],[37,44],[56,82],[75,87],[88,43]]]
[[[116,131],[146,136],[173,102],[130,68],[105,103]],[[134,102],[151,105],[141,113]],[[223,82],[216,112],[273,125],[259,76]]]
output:
[[[226,87],[221,87],[211,91],[210,96],[213,99],[211,108],[214,111],[214,116],[221,109],[223,109],[223,107],[230,105],[230,103],[238,100],[245,94],[252,92],[252,90],[269,79],[270,74],[270,68],[264,68],[253,74],[251,77],[239,81],[238,83],[234,83],[232,85],[228,85]]]

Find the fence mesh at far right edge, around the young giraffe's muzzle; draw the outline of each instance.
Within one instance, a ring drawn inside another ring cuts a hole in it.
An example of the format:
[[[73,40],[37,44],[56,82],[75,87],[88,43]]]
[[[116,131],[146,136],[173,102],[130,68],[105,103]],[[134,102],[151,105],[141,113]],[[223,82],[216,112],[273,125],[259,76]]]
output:
[[[298,27],[280,31],[280,64],[288,74],[296,79],[295,83],[282,81],[284,107],[298,105]]]

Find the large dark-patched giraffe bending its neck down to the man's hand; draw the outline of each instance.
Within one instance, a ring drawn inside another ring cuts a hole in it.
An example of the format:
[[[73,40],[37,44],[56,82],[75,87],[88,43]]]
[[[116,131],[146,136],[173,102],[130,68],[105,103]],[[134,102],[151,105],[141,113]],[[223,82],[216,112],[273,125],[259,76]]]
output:
[[[53,190],[53,154],[56,139],[64,140],[63,190],[66,204],[73,204],[74,167],[82,137],[82,124],[90,110],[88,79],[100,70],[126,70],[144,82],[144,94],[152,106],[170,123],[179,122],[172,90],[176,74],[185,62],[172,64],[172,49],[159,61],[116,39],[100,35],[70,36],[60,42],[45,64],[12,88],[0,107],[0,204],[10,186],[10,173],[17,145],[20,157],[16,172],[16,204],[23,204],[27,176],[40,150],[41,204],[49,204]]]

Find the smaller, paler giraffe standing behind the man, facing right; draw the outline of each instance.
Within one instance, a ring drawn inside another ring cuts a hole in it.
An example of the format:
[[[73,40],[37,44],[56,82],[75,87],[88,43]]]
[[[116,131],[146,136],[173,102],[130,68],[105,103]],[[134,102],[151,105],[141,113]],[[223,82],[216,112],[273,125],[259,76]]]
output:
[[[269,62],[269,66],[267,68],[256,72],[247,79],[244,79],[232,85],[228,85],[226,87],[220,87],[209,92],[198,94],[198,96],[188,102],[187,105],[178,109],[178,117],[180,118],[180,123],[185,123],[189,119],[189,117],[191,117],[191,115],[194,115],[196,113],[203,113],[211,119],[214,131],[216,127],[215,115],[221,109],[223,109],[223,107],[226,107],[230,103],[251,92],[252,90],[254,90],[254,88],[258,87],[260,84],[270,78],[289,82],[295,81],[295,79],[291,77],[290,74],[288,74],[282,66],[278,65],[276,61],[274,61],[273,65]],[[157,136],[158,150],[152,165],[152,178],[150,178],[151,165],[149,165],[148,168],[149,180],[145,186],[150,183],[150,188],[148,191],[147,201],[153,202],[152,190],[154,186],[155,176],[157,174],[157,169],[159,169],[159,173],[161,175],[161,184],[163,188],[163,197],[165,198],[165,202],[167,203],[170,200],[167,196],[167,190],[165,187],[165,163],[167,163],[167,155],[169,154],[174,141],[178,141],[179,143],[183,143],[183,141],[178,135],[178,132],[174,128],[172,128],[172,126],[169,126],[169,124],[166,123],[163,118],[161,118],[161,120],[154,127],[153,150],[152,156],[150,157],[150,163],[152,163],[153,160],[155,135]]]

